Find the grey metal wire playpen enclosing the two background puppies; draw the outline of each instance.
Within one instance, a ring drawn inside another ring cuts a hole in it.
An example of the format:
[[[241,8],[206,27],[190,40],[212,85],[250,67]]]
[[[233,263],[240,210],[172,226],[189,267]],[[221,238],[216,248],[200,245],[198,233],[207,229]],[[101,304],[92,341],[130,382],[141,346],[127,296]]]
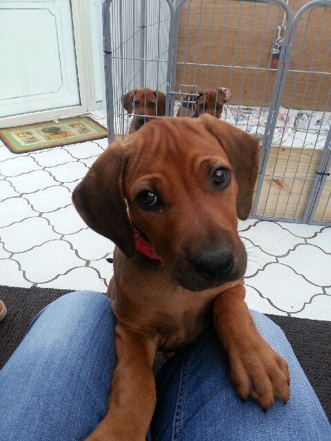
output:
[[[176,116],[228,88],[221,119],[261,139],[251,216],[331,225],[331,0],[106,0],[103,50],[109,141],[130,90]]]

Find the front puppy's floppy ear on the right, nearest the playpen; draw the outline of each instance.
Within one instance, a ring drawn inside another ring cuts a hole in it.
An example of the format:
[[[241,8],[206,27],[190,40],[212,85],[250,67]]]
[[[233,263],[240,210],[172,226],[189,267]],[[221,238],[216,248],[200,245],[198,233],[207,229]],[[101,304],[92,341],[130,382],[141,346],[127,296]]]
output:
[[[259,170],[259,141],[207,114],[201,115],[197,121],[217,139],[230,160],[238,185],[237,214],[240,219],[245,220],[252,207],[254,185]]]

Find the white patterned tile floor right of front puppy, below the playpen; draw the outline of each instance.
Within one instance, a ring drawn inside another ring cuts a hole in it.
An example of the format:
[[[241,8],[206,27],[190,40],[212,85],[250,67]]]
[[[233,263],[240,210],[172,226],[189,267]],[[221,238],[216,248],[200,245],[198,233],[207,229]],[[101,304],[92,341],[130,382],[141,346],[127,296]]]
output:
[[[241,224],[248,251],[248,305],[270,314],[331,320],[331,227],[263,220]],[[268,305],[257,302],[257,296]]]

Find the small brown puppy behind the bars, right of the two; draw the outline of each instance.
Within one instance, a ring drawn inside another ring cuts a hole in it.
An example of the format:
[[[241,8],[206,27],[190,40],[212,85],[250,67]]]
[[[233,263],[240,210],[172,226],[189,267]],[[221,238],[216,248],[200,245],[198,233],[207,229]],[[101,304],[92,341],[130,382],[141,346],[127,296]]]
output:
[[[227,88],[217,88],[194,90],[188,95],[183,96],[183,102],[177,116],[188,116],[189,118],[198,118],[203,113],[208,113],[219,118],[223,112],[223,105],[228,103],[231,98],[230,90]]]

